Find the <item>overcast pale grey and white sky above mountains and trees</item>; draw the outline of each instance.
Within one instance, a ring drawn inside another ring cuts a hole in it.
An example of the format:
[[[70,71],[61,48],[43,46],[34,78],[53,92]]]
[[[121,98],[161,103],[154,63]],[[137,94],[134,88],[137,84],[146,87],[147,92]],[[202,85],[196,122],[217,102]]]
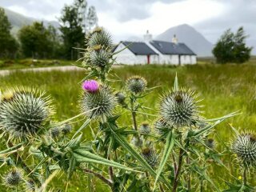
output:
[[[95,6],[99,26],[115,39],[155,35],[183,23],[194,26],[210,42],[228,28],[244,26],[256,42],[256,0],[87,0]],[[32,18],[58,20],[73,0],[0,0],[0,6]]]

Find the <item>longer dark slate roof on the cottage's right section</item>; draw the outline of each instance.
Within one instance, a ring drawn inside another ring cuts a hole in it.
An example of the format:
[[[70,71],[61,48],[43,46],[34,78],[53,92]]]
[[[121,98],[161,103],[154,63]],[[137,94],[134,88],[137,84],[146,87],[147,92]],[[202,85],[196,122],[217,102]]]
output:
[[[189,47],[184,43],[151,41],[150,44],[154,46],[161,54],[190,54],[195,55]]]

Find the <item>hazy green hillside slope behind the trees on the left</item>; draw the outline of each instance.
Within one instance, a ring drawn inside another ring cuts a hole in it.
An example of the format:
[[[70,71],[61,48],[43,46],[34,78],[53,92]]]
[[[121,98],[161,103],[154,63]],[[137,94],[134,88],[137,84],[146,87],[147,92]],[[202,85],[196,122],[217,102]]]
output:
[[[2,8],[2,7],[1,7]],[[45,26],[54,26],[55,28],[59,27],[58,22],[55,21],[46,21],[46,20],[38,20],[36,18],[29,18],[22,14],[18,14],[12,10],[8,10],[6,8],[3,8],[6,12],[6,16],[9,19],[11,25],[13,26],[11,33],[16,35],[18,33],[18,30],[22,28],[22,26],[31,25],[33,22],[43,22]]]

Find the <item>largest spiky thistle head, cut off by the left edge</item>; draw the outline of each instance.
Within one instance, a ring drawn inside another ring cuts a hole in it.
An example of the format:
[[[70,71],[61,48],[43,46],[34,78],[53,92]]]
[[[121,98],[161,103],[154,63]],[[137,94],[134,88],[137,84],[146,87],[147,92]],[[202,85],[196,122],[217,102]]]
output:
[[[53,114],[50,98],[29,88],[15,88],[6,93],[0,102],[0,128],[19,138],[28,138],[42,130]]]

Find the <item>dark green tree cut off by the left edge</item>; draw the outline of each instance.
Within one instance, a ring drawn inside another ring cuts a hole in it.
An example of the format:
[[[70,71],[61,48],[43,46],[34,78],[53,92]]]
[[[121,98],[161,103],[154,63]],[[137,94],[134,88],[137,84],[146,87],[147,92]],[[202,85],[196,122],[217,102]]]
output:
[[[18,51],[18,42],[10,34],[11,24],[2,8],[0,8],[0,23],[0,58],[14,58]]]

